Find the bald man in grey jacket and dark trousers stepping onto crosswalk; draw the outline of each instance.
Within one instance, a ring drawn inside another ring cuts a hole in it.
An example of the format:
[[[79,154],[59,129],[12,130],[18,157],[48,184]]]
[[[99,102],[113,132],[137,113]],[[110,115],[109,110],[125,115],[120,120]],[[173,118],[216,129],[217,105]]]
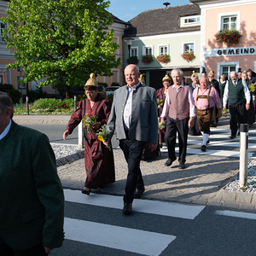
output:
[[[131,214],[134,197],[139,198],[145,190],[140,170],[145,143],[149,143],[152,151],[158,143],[156,91],[141,84],[139,76],[139,68],[136,65],[125,67],[127,85],[115,90],[108,118],[108,141],[115,130],[119,146],[128,163],[123,209],[125,214]]]

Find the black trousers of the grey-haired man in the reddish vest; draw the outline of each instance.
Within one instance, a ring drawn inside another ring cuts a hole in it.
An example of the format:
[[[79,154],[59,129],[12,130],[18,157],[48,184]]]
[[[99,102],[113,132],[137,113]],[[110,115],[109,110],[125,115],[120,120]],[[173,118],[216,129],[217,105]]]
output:
[[[187,154],[187,141],[189,132],[189,118],[186,119],[172,119],[169,116],[166,120],[166,146],[168,148],[168,158],[172,161],[176,160],[175,143],[176,134],[178,134],[179,147],[179,163],[185,163]]]

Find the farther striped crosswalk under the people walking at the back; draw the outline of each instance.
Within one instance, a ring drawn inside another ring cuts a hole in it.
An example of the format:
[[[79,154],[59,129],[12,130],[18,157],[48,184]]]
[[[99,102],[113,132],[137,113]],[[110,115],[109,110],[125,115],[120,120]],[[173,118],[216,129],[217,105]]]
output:
[[[207,151],[201,151],[202,136],[189,136],[187,154],[206,154],[226,157],[240,157],[240,137],[230,140],[230,129],[211,128]],[[178,152],[178,147],[175,148]],[[167,148],[161,148],[167,152]],[[248,158],[256,158],[256,130],[248,132]]]

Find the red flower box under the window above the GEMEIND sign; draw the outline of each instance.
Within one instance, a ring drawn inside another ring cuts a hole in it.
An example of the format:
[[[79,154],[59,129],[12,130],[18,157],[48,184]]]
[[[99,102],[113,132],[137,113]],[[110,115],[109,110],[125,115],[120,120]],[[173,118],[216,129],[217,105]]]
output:
[[[219,31],[216,35],[216,40],[219,43],[224,43],[227,46],[232,46],[239,43],[239,39],[241,38],[241,33],[236,29],[224,29]]]

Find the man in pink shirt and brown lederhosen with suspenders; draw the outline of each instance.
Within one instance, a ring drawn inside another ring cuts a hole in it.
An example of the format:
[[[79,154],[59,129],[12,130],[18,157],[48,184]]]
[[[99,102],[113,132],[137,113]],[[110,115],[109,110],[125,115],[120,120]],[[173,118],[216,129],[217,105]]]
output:
[[[203,134],[201,151],[206,151],[207,143],[209,142],[213,108],[214,105],[216,105],[218,108],[218,118],[220,118],[222,116],[221,102],[218,91],[208,84],[208,79],[205,77],[201,77],[200,86],[193,91],[193,99],[196,107],[196,118],[199,130]]]

